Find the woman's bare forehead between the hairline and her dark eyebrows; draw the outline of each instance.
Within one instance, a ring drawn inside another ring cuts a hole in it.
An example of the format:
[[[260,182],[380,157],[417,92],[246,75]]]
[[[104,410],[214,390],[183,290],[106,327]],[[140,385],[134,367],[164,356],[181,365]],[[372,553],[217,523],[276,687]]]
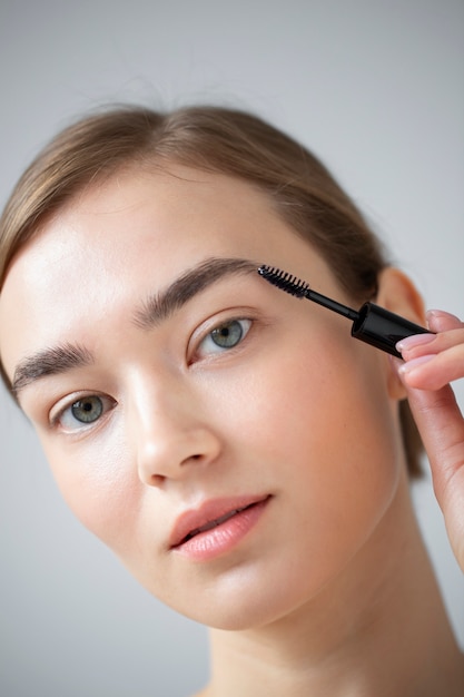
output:
[[[110,308],[131,312],[205,258],[290,256],[295,268],[302,247],[241,180],[185,167],[119,174],[76,197],[13,259],[0,295],[3,364],[10,372],[24,352],[71,338],[77,322],[85,341]]]

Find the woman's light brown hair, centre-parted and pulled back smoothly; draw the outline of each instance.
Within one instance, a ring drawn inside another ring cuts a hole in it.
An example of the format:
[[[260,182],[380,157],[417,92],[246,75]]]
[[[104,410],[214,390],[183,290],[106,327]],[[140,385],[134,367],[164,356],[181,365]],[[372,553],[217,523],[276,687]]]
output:
[[[0,288],[14,255],[83,187],[138,165],[176,161],[239,177],[264,190],[275,210],[309,242],[354,298],[375,296],[387,265],[377,237],[324,165],[260,118],[220,107],[158,112],[113,107],[60,132],[24,171],[0,219]],[[11,384],[0,364],[7,387]],[[409,472],[421,441],[407,402],[401,419]]]

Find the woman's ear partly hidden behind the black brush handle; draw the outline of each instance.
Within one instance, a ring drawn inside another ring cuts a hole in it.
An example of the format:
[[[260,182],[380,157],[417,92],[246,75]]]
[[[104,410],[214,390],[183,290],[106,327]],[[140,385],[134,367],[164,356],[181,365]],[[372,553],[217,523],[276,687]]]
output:
[[[398,268],[389,266],[381,273],[375,302],[411,322],[426,326],[423,298],[411,278]],[[406,391],[392,362],[388,363],[388,392],[395,400],[406,399]]]

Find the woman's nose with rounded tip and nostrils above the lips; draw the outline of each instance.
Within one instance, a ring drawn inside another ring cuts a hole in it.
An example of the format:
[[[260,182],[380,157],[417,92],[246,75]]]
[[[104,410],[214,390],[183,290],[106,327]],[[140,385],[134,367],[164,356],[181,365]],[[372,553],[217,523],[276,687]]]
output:
[[[138,390],[131,404],[130,438],[140,480],[159,487],[213,463],[220,440],[198,409],[198,400],[176,386]]]

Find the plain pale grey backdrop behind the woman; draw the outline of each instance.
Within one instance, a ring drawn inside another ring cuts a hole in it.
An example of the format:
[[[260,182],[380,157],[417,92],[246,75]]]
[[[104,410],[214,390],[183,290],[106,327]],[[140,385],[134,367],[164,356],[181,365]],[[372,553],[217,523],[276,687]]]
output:
[[[313,148],[427,305],[464,314],[462,0],[1,0],[0,84],[0,204],[77,112],[238,105]],[[463,403],[463,381],[456,389]],[[79,527],[3,392],[0,439],[0,694],[199,688],[205,630],[150,598]],[[464,581],[428,482],[414,495],[464,647]]]

